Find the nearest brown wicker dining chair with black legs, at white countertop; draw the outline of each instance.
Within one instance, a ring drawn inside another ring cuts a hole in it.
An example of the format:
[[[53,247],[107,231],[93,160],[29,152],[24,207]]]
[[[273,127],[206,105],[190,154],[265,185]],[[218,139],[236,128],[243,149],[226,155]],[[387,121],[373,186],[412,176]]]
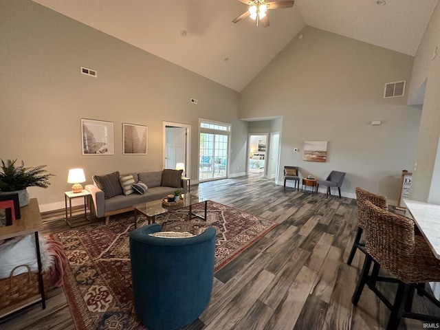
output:
[[[413,318],[427,322],[440,322],[439,314],[428,316],[411,311],[415,289],[432,301],[437,307],[440,302],[423,285],[417,283],[440,281],[440,260],[435,258],[428,243],[421,235],[415,234],[412,219],[391,213],[375,206],[371,201],[361,201],[366,212],[364,225],[366,257],[362,276],[351,299],[358,305],[364,285],[377,295],[391,310],[387,330],[397,329],[401,318]],[[371,263],[386,268],[395,278],[369,275]],[[376,287],[377,282],[398,283],[397,293],[392,304]]]

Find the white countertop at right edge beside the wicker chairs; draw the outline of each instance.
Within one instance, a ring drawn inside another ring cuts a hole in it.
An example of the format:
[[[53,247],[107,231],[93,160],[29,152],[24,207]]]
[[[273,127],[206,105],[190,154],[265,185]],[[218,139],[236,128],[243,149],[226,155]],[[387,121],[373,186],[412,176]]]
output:
[[[437,259],[440,259],[440,205],[404,199],[412,219],[425,236]]]

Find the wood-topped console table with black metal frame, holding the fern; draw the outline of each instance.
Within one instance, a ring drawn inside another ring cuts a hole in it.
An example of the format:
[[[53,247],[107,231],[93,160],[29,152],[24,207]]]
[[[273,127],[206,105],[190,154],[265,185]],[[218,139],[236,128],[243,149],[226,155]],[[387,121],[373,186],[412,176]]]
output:
[[[12,225],[7,225],[0,228],[0,240],[10,239],[11,237],[32,234],[35,235],[35,248],[36,259],[39,265],[39,287],[40,296],[38,298],[29,298],[21,303],[11,305],[0,311],[0,318],[8,314],[18,311],[24,307],[34,305],[41,302],[43,309],[46,308],[43,276],[41,275],[41,255],[40,255],[40,242],[39,242],[39,230],[43,229],[43,223],[41,221],[41,214],[39,209],[39,203],[36,198],[30,199],[30,203],[27,206],[20,208],[21,219],[17,219]]]

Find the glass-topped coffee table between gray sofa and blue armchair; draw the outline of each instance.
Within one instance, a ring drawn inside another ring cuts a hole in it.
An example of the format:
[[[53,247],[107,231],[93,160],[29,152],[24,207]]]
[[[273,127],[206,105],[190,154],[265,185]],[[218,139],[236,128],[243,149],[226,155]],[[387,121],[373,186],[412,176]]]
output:
[[[201,219],[206,220],[206,212],[207,212],[206,208],[208,206],[208,199],[207,198],[197,196],[197,195],[192,195],[189,193],[183,194],[182,197],[184,199],[183,203],[173,204],[172,206],[169,206],[169,210],[177,210],[179,208],[185,208],[185,207],[189,206],[188,220],[192,219],[193,217],[199,217]],[[202,203],[203,201],[205,202],[204,217],[192,212],[192,206],[197,203]],[[155,223],[156,215],[164,214],[164,213],[168,212],[167,207],[168,206],[165,206],[164,204],[162,204],[162,199],[158,199],[155,201],[146,201],[144,203],[139,203],[139,204],[133,205],[133,208],[135,210],[135,228],[137,228],[137,218],[140,214],[144,214],[146,216],[146,219],[148,220],[148,224]]]

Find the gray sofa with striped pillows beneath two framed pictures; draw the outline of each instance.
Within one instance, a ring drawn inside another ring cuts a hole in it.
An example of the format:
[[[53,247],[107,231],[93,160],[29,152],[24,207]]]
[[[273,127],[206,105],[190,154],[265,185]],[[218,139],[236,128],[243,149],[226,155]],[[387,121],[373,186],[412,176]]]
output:
[[[148,189],[141,195],[134,191],[124,195],[124,188],[121,186],[119,172],[108,175],[94,175],[94,184],[87,184],[85,189],[91,193],[91,210],[96,217],[105,217],[105,223],[113,214],[133,210],[133,205],[145,201],[162,199],[166,195],[173,194],[177,188],[181,193],[188,192],[187,180],[181,178],[181,170],[159,170],[156,172],[129,173],[133,176],[134,184],[142,181]],[[119,185],[119,186],[118,186]]]

